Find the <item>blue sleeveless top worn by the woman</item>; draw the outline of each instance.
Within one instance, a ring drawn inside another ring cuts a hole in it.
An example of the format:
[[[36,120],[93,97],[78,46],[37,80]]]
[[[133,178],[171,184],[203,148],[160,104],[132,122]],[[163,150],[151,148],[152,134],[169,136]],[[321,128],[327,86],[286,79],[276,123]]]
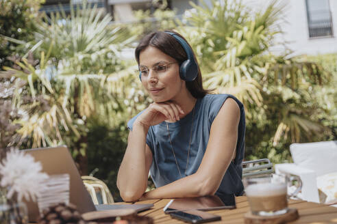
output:
[[[188,146],[192,128],[190,156],[188,158],[186,173],[187,176],[195,173],[205,154],[208,139],[210,138],[212,122],[227,98],[234,99],[240,107],[238,141],[236,143],[236,158],[229,164],[216,193],[235,194],[238,196],[243,193],[241,179],[242,159],[245,151],[245,111],[242,103],[237,98],[229,94],[208,94],[203,98],[198,98],[195,104],[194,117],[192,110],[181,120],[175,123],[168,123],[168,130],[180,172],[182,176],[185,177]],[[140,113],[138,113],[138,115],[140,115]],[[132,124],[138,115],[127,123],[127,127],[130,130],[132,130]],[[175,163],[171,144],[168,139],[166,122],[150,126],[149,132],[147,133],[147,145],[149,145],[153,155],[150,173],[156,187],[164,186],[182,178],[177,169],[177,164]],[[226,149],[224,148],[223,150]]]

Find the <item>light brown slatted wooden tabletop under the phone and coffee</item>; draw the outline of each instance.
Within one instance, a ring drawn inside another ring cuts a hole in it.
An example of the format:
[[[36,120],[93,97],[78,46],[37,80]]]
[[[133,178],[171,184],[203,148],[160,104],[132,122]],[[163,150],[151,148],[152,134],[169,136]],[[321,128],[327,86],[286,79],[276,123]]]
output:
[[[154,219],[154,223],[184,223],[177,219],[171,219],[171,216],[164,214],[163,208],[170,199],[158,199],[149,201],[138,201],[136,204],[153,203],[154,207],[150,210],[140,212],[139,215],[150,216]],[[217,210],[210,211],[213,214],[221,216],[221,221],[212,223],[245,223],[243,215],[249,211],[247,197],[236,197],[236,209],[234,210]],[[337,223],[337,208],[325,206],[323,204],[311,203],[308,201],[289,201],[290,208],[297,208],[299,211],[299,219],[291,223]]]

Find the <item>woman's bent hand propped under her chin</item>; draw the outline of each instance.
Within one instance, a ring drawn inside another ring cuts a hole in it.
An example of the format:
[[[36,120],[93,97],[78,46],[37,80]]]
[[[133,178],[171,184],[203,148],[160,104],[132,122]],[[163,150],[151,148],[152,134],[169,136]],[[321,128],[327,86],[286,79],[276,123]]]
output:
[[[153,102],[140,114],[136,122],[140,122],[143,126],[153,126],[168,120],[168,122],[176,122],[183,115],[182,107],[174,102]]]

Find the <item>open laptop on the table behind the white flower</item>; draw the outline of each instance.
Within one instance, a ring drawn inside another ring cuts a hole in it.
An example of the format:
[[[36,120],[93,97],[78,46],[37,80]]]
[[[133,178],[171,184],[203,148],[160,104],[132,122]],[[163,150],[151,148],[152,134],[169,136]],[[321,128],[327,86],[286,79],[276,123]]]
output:
[[[42,171],[49,175],[68,173],[70,176],[70,202],[77,206],[77,210],[83,214],[96,210],[112,210],[132,208],[137,212],[153,207],[153,204],[105,204],[95,206],[84,186],[81,176],[66,145],[51,148],[38,148],[23,150],[30,154],[36,161],[40,161]],[[26,201],[30,222],[38,218],[38,204],[34,201]]]

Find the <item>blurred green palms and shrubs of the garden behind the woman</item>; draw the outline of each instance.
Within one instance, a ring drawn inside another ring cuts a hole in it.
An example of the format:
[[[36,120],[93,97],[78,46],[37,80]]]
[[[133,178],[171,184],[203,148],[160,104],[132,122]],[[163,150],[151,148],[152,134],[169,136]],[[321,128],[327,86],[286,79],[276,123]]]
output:
[[[275,55],[284,44],[275,41],[279,1],[255,14],[239,1],[191,3],[183,18],[153,1],[156,10],[134,12],[131,24],[111,23],[86,2],[46,16],[41,2],[0,1],[0,148],[66,144],[79,171],[103,180],[118,201],[126,123],[151,102],[123,50],[156,29],[182,33],[205,87],[245,104],[245,160],[285,163],[292,142],[336,139],[337,54]]]

